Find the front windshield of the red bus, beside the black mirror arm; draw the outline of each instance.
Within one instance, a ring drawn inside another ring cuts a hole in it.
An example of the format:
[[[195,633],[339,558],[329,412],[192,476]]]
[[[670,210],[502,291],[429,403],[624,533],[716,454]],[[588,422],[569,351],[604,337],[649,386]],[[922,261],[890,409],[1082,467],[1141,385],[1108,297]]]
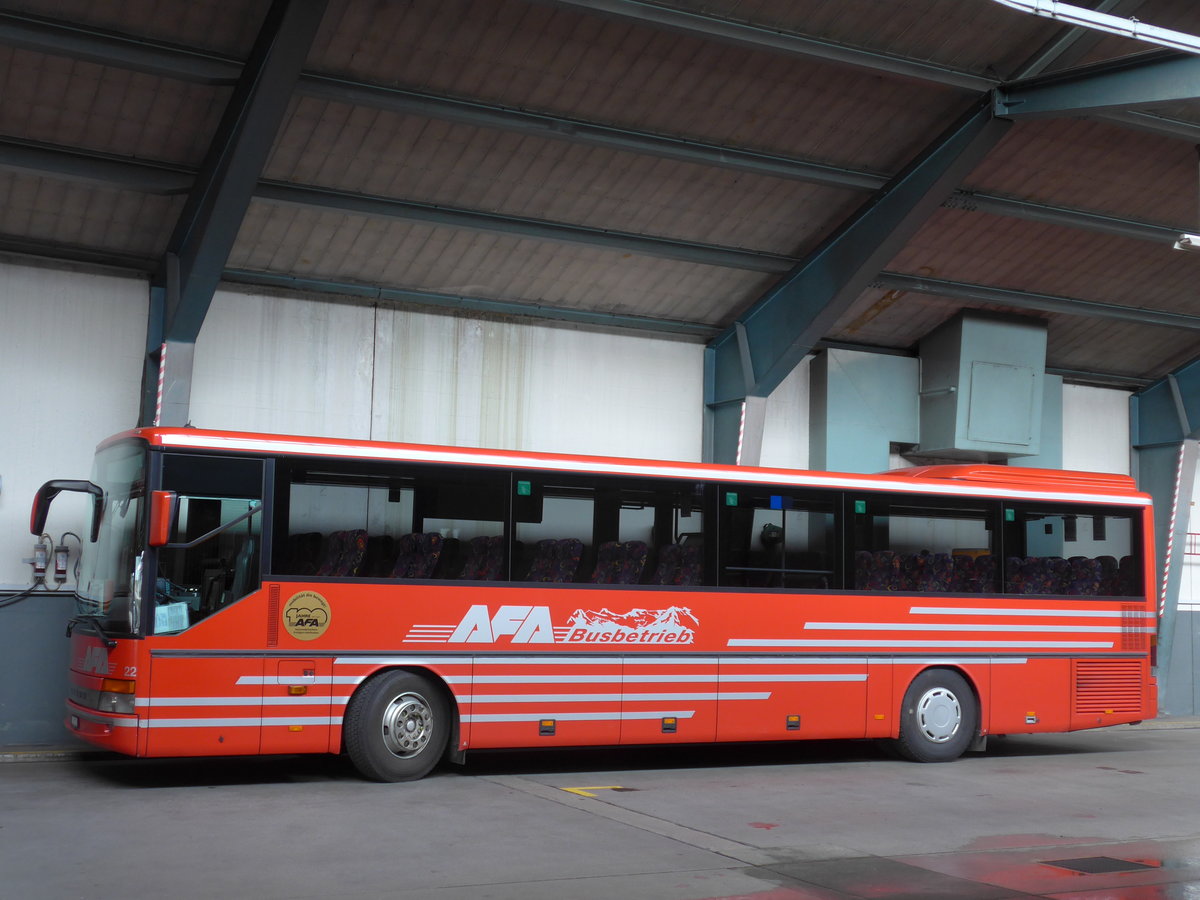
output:
[[[104,491],[104,510],[100,536],[83,554],[77,612],[97,617],[116,636],[136,635],[140,625],[132,595],[145,544],[145,460],[143,442],[121,442],[96,455],[91,474]]]

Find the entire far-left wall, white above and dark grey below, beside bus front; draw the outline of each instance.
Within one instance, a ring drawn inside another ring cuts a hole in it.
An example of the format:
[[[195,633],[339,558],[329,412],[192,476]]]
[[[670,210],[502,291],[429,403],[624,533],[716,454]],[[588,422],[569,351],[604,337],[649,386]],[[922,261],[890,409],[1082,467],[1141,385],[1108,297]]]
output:
[[[0,262],[0,602],[32,583],[20,560],[37,487],[86,478],[96,444],[136,422],[145,317],[137,278]],[[80,496],[62,494],[47,530],[86,538],[88,515]],[[67,544],[73,569],[79,544]],[[0,748],[66,740],[70,590],[0,607]]]

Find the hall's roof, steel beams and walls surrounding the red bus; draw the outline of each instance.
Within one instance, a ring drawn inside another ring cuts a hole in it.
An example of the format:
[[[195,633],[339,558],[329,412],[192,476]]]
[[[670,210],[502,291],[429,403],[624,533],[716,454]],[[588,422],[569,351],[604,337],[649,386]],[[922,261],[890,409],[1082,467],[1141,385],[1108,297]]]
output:
[[[155,422],[1097,468],[1156,499],[1195,714],[1194,52],[995,0],[43,0],[0,78],[0,604],[37,485]],[[0,745],[65,740],[67,608],[0,606]]]

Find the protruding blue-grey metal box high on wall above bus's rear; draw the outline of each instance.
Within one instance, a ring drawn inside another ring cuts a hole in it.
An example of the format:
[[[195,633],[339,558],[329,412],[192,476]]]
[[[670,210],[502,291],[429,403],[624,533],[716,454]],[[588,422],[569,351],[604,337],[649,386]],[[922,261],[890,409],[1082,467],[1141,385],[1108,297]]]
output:
[[[920,443],[912,455],[1000,461],[1038,454],[1046,324],[965,311],[920,341]]]

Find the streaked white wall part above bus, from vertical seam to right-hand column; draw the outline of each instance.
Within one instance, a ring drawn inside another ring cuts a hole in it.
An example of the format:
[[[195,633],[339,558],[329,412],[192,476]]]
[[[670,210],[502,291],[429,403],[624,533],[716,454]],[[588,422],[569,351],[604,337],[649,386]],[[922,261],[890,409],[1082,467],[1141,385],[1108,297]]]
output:
[[[376,439],[701,457],[700,344],[406,310],[377,334]]]

